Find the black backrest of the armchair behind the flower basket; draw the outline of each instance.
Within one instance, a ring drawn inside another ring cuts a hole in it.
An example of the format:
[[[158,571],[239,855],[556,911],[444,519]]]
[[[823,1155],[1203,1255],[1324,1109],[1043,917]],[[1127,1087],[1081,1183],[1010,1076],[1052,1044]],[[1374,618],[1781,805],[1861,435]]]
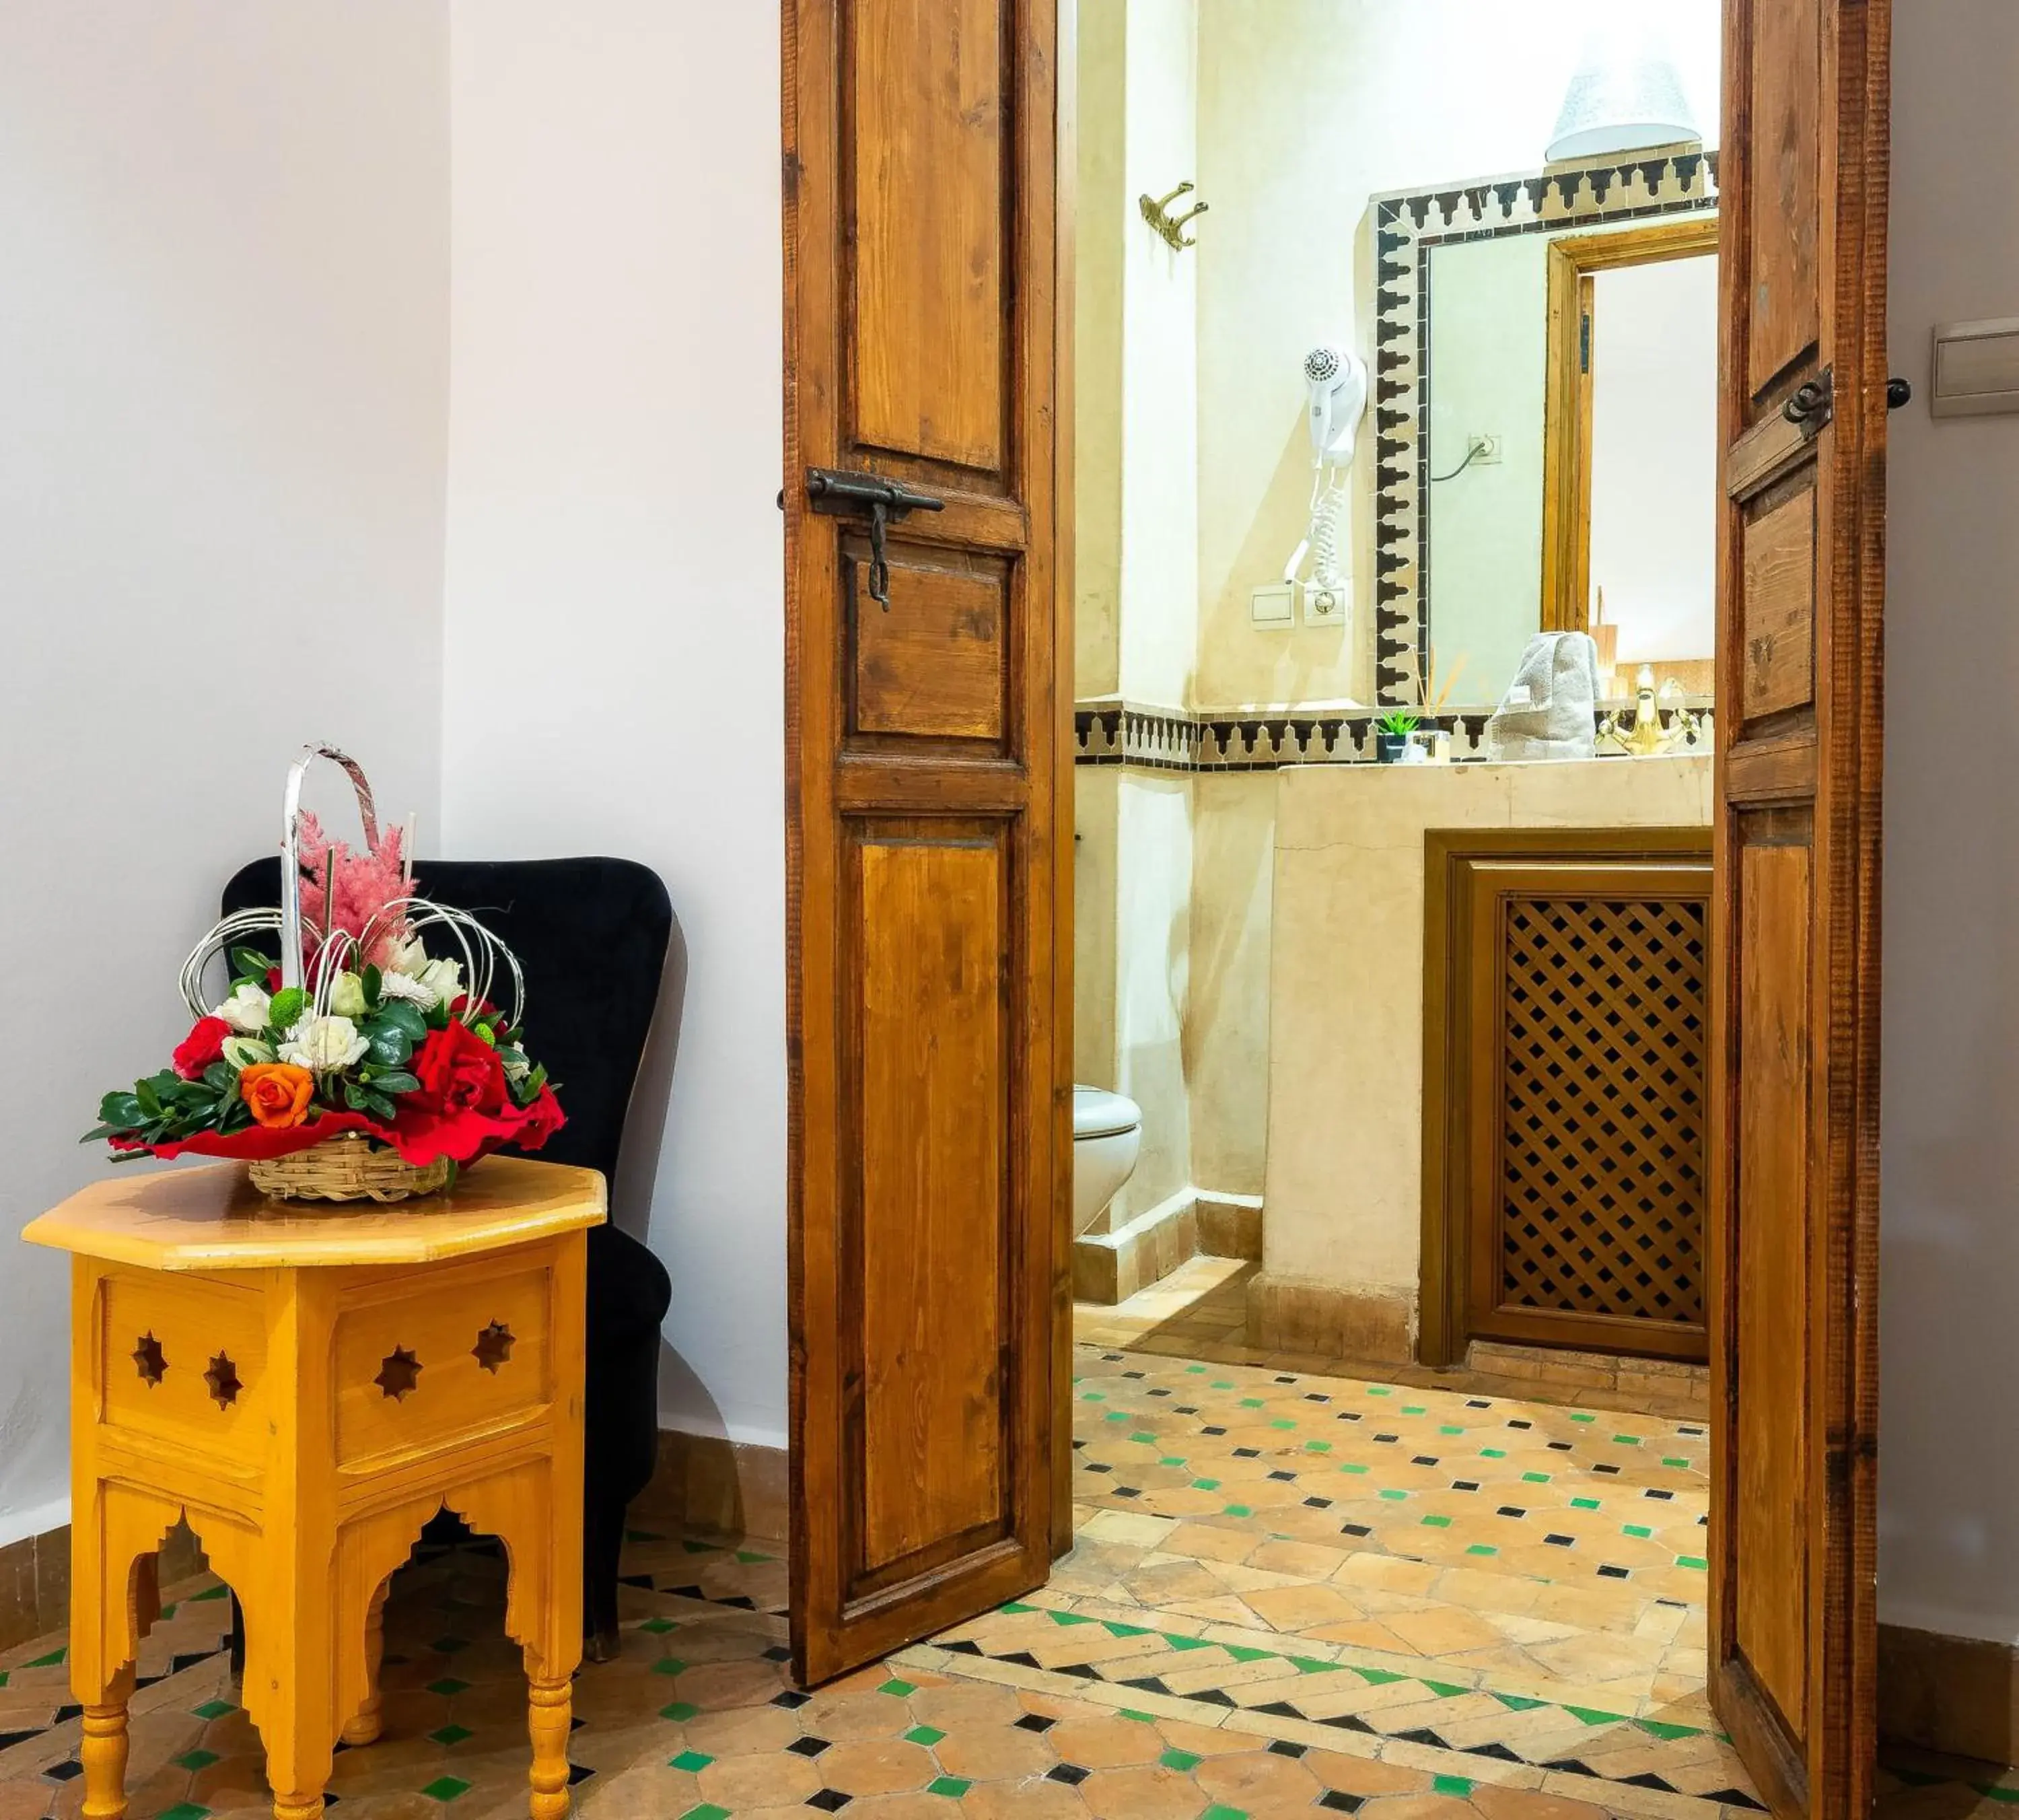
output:
[[[519,955],[527,1050],[547,1065],[567,1113],[541,1157],[616,1180],[672,937],[658,873],[626,858],[420,861],[414,885],[468,911]],[[279,854],[224,887],[226,913],[279,901]]]

